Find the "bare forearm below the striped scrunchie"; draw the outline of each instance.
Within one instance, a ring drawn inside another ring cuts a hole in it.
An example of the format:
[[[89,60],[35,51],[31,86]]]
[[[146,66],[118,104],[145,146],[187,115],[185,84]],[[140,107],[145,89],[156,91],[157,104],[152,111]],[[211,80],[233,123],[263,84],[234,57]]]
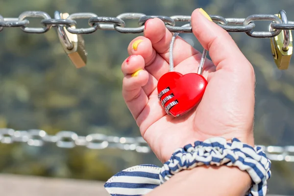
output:
[[[235,167],[201,166],[172,176],[147,196],[245,196],[251,178]]]

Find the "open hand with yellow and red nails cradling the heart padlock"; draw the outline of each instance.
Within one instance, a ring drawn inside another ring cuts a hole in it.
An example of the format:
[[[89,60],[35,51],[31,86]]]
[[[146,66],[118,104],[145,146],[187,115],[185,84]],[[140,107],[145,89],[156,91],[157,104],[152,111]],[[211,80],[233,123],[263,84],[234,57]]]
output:
[[[211,137],[235,137],[254,145],[253,67],[231,36],[201,13],[200,9],[193,12],[192,29],[212,61],[205,61],[203,76],[208,85],[201,102],[190,112],[174,118],[166,114],[157,98],[157,82],[169,72],[172,39],[160,19],[146,22],[145,36],[130,43],[130,57],[122,64],[123,98],[142,137],[161,162],[166,162],[176,148]],[[199,51],[178,37],[173,54],[175,72],[197,73]]]

